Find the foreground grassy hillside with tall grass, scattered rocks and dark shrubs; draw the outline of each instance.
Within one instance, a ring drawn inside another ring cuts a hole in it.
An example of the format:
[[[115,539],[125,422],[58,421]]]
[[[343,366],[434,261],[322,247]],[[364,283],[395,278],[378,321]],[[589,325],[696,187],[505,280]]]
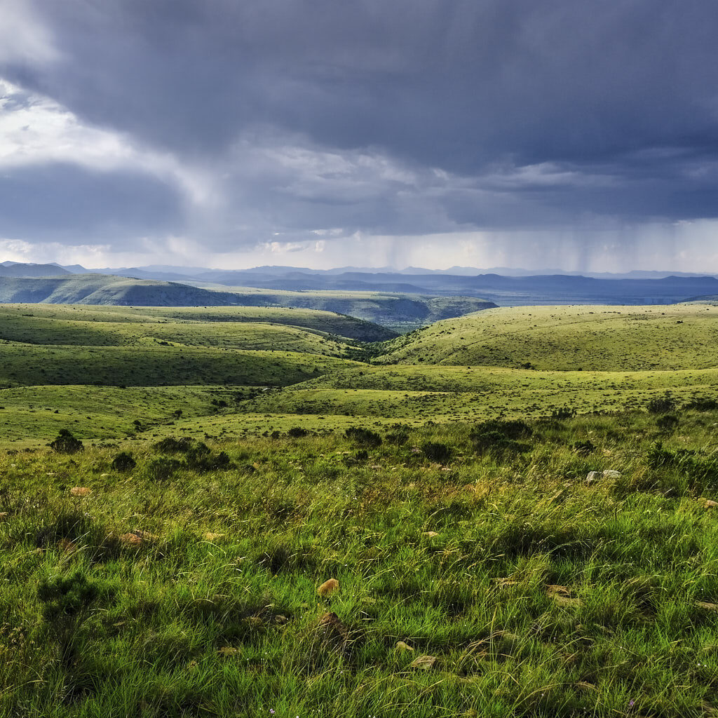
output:
[[[706,718],[716,421],[0,454],[0,714]]]

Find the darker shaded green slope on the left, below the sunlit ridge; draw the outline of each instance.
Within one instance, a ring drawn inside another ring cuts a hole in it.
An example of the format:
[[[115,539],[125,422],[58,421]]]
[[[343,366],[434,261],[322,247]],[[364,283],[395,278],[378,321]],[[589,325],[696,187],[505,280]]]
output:
[[[0,387],[34,384],[286,386],[340,368],[340,358],[283,351],[0,344]]]

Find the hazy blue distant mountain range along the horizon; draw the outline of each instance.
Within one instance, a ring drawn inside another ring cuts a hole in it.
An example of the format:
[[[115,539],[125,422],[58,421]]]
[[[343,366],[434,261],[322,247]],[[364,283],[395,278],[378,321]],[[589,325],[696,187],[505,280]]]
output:
[[[358,297],[346,301],[347,298],[342,299],[340,293],[379,292],[386,297],[391,294],[393,299],[402,295],[412,297],[412,301],[416,299],[421,304],[426,304],[432,297],[452,298],[449,305],[454,307],[452,311],[457,312],[460,306],[481,308],[492,306],[492,303],[503,306],[671,304],[688,298],[718,295],[718,278],[711,275],[663,276],[661,272],[637,271],[630,276],[610,275],[607,278],[579,274],[470,274],[473,270],[467,268],[457,268],[457,271],[463,273],[353,268],[319,271],[274,266],[220,270],[154,265],[90,272],[78,265],[3,262],[0,264],[0,301],[161,306],[262,303],[307,307],[314,306],[318,301],[316,297],[309,300],[309,293],[332,292],[334,297],[331,301],[329,297],[322,299],[325,302],[322,308],[356,316]],[[37,281],[33,284],[32,280]],[[257,290],[264,294],[264,299]],[[290,299],[279,297],[276,292],[295,294]],[[293,304],[289,304],[290,301]],[[378,300],[376,297],[365,297],[363,301],[376,303]],[[442,311],[449,305],[444,305]],[[351,311],[339,308],[347,306]],[[427,316],[433,311],[427,310]],[[367,318],[366,314],[362,318]]]

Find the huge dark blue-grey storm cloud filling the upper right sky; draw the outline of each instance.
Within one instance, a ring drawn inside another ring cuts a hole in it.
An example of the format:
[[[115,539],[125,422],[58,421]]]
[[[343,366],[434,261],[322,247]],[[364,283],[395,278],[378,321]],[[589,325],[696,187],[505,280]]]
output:
[[[2,74],[222,178],[230,209],[187,224],[222,244],[718,214],[713,0],[32,7],[57,58]],[[277,160],[292,142],[350,167]]]

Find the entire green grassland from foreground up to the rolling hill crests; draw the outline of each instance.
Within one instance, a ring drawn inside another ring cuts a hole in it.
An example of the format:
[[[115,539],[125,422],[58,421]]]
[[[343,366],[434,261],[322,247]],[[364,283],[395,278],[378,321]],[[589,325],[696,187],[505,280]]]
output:
[[[718,716],[716,312],[0,307],[0,716]]]

